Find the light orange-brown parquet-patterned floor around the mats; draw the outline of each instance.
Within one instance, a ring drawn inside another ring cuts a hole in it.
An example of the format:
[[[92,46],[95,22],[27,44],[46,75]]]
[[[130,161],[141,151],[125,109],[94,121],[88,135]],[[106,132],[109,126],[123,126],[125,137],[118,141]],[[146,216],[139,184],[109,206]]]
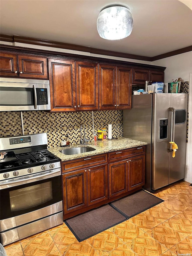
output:
[[[165,200],[127,221],[78,242],[65,224],[5,246],[7,256],[192,255],[192,186],[177,182],[155,196]]]

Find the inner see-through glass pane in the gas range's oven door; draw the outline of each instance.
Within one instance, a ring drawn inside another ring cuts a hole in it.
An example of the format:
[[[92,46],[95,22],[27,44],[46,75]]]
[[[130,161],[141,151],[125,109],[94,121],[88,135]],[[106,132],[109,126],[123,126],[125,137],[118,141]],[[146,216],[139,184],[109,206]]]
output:
[[[52,183],[44,182],[9,192],[12,212],[36,207],[52,200]]]

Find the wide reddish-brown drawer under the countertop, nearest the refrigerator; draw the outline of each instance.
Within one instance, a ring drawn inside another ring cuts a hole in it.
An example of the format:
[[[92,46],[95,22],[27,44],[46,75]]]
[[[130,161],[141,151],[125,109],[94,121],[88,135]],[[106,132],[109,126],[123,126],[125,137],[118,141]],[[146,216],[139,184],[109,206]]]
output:
[[[131,149],[123,149],[109,153],[109,163],[129,158],[132,155],[140,155],[145,153],[145,146],[139,146]]]

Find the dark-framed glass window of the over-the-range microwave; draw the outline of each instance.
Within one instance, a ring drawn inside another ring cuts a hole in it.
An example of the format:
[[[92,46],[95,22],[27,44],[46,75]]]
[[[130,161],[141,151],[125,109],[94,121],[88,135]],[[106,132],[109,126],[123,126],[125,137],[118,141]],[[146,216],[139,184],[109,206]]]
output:
[[[32,106],[33,88],[0,87],[1,106]]]

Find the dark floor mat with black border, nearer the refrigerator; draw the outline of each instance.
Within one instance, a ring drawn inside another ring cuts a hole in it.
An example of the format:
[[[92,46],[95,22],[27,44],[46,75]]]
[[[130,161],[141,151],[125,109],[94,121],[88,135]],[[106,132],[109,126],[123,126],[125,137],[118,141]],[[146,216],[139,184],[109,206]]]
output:
[[[134,194],[128,195],[127,197],[118,199],[110,203],[110,205],[128,218],[131,218],[163,201],[164,200],[144,190],[140,190]]]

